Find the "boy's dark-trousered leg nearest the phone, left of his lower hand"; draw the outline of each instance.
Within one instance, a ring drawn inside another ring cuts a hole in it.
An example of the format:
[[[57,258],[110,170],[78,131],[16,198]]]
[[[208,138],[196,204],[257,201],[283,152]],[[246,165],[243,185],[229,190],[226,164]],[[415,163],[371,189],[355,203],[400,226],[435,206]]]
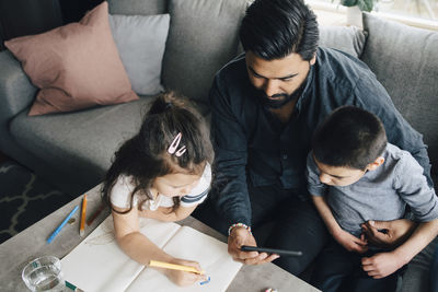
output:
[[[350,281],[359,257],[347,252],[333,238],[318,256],[310,283],[324,292],[350,292]],[[373,292],[373,291],[372,291]]]

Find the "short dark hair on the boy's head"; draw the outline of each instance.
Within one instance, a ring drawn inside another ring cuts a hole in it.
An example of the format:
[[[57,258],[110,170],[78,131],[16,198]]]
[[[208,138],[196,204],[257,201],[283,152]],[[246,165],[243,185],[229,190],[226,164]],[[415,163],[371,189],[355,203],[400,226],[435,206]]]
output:
[[[313,155],[322,164],[365,170],[387,148],[387,133],[373,114],[354,106],[338,107],[313,136]]]

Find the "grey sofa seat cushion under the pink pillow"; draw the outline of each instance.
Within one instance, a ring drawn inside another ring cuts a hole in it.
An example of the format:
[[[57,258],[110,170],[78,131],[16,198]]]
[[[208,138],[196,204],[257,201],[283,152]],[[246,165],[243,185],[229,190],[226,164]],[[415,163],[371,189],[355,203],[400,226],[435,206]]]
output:
[[[11,133],[19,144],[74,182],[97,184],[118,147],[139,129],[153,98],[45,116],[18,115]],[[79,194],[78,194],[79,195]]]

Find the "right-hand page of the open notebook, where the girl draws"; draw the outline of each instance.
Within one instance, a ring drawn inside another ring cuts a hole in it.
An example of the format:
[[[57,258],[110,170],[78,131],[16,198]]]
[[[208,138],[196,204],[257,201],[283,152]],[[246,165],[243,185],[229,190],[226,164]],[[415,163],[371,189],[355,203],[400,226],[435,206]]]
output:
[[[195,260],[210,277],[204,285],[180,288],[153,268],[146,268],[126,290],[128,292],[219,292],[226,291],[242,264],[233,261],[227,250],[227,244],[203,234],[192,227],[183,226],[164,246],[164,252],[183,259]]]

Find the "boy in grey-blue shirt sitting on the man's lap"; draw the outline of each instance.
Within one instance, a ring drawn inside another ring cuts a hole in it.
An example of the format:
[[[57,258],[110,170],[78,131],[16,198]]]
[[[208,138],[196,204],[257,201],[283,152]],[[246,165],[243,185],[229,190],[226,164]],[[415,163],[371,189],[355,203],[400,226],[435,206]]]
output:
[[[438,234],[438,199],[423,168],[388,143],[371,113],[334,110],[313,137],[308,189],[333,235],[312,283],[325,291],[395,291],[396,273]],[[403,218],[410,206],[418,227],[393,250],[369,246],[360,225]]]

